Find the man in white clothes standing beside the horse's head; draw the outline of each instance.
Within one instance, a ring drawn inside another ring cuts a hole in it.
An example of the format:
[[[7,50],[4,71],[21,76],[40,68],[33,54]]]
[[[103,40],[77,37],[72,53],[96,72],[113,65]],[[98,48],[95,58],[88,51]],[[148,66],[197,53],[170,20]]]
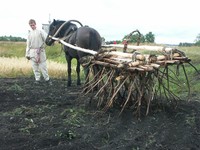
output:
[[[26,58],[31,60],[32,69],[35,75],[35,83],[38,84],[41,81],[42,72],[44,80],[47,83],[52,84],[49,80],[46,52],[44,48],[47,34],[42,30],[36,29],[36,21],[34,19],[29,20],[29,25],[32,30],[29,32],[26,42]]]

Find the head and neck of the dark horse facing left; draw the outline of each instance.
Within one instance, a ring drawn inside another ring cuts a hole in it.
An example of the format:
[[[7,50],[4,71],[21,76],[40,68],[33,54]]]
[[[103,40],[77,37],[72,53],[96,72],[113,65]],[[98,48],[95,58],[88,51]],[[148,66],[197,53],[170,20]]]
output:
[[[69,34],[71,30],[76,30],[77,26],[72,22],[76,22],[80,24],[80,26],[83,26],[77,20],[62,21],[54,19],[49,26],[49,33],[45,41],[46,45],[51,46],[55,42],[52,37],[63,38],[64,36]]]

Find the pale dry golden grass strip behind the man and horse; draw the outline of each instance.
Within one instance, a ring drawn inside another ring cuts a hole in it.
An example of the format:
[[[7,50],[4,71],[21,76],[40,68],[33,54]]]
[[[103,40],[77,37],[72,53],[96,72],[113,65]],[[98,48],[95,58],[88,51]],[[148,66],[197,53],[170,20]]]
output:
[[[31,62],[25,58],[0,57],[0,77],[20,77],[33,75]],[[67,66],[47,60],[49,75],[52,78],[66,78]]]

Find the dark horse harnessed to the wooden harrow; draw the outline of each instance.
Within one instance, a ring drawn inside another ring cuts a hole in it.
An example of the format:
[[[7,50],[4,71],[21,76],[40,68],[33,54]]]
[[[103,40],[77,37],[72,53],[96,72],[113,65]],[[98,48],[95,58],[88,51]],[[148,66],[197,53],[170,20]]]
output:
[[[74,23],[73,23],[74,22]],[[81,27],[77,27],[75,23],[78,23]],[[94,51],[100,50],[101,47],[101,36],[93,28],[88,26],[83,26],[77,20],[53,20],[49,27],[49,33],[46,39],[46,44],[51,46],[55,40],[51,37],[62,38],[65,42]],[[81,84],[80,81],[80,59],[88,53],[74,50],[64,45],[65,57],[68,64],[68,86],[71,86],[71,60],[75,58],[77,60],[76,72],[77,72],[77,85]],[[88,69],[84,68],[85,77],[87,78]],[[87,81],[86,81],[87,82]]]

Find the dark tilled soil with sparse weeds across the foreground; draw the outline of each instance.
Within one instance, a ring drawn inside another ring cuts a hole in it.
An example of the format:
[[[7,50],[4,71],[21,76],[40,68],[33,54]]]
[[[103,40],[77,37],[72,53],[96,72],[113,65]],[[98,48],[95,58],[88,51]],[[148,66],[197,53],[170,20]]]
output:
[[[0,150],[199,150],[200,102],[102,113],[82,87],[0,79]]]

